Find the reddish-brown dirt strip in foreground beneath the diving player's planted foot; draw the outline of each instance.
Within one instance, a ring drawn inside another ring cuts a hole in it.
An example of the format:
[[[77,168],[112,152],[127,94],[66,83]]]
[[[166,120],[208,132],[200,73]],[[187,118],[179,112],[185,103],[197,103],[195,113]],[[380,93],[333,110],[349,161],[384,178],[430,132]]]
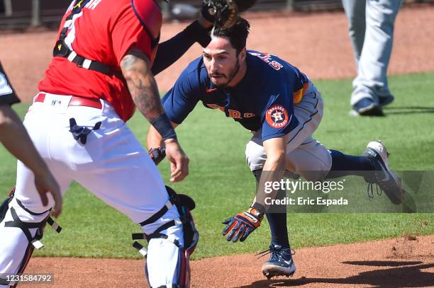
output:
[[[264,261],[254,255],[192,261],[191,287],[434,287],[434,236],[299,249],[291,278],[267,280]],[[54,274],[54,284],[35,288],[148,287],[143,260],[34,258],[26,272]]]

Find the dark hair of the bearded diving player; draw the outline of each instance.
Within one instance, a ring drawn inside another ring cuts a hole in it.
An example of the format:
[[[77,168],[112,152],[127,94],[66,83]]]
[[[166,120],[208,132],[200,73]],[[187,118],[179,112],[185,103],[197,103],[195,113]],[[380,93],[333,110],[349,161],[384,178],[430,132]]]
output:
[[[245,42],[249,35],[250,23],[245,18],[238,18],[237,23],[231,28],[223,29],[216,28],[213,32],[213,36],[225,37],[229,39],[230,45],[237,50],[237,56],[245,48]]]

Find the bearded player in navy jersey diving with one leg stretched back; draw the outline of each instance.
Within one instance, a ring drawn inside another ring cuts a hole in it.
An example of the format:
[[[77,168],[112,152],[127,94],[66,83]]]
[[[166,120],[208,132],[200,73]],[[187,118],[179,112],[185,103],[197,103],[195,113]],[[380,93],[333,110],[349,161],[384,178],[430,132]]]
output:
[[[250,170],[264,191],[268,180],[282,179],[285,170],[316,181],[347,175],[366,175],[389,199],[398,204],[403,190],[400,180],[389,170],[388,153],[380,142],[369,142],[362,156],[348,156],[328,150],[313,139],[323,117],[321,93],[299,69],[272,54],[246,50],[250,25],[243,18],[229,29],[215,29],[203,55],[191,62],[163,98],[167,117],[174,127],[201,101],[218,109],[253,132],[245,154]],[[148,148],[164,145],[151,127]],[[161,160],[161,159],[160,159]],[[262,173],[267,171],[267,173]],[[386,177],[384,177],[386,176]],[[388,178],[389,180],[385,180]],[[258,194],[257,194],[258,195]],[[228,241],[245,241],[267,216],[272,239],[270,257],[262,265],[267,277],[293,275],[286,214],[266,213],[266,205],[256,199],[245,212],[223,221]]]

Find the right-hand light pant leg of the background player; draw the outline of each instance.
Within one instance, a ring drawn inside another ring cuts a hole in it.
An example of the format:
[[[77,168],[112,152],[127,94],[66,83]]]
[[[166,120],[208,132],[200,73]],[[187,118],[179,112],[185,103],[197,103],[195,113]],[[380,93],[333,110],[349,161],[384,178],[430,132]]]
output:
[[[387,82],[387,67],[393,44],[394,22],[401,0],[367,0],[366,33],[357,77],[352,85],[351,105],[362,98],[391,95]]]

